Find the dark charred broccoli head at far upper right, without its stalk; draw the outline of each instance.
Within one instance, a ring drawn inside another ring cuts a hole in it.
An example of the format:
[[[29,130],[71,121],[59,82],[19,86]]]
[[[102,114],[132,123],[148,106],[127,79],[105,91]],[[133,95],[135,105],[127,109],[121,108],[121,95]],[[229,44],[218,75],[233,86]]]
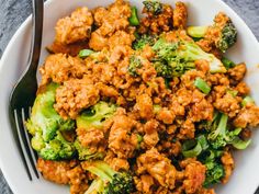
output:
[[[228,21],[222,28],[219,39],[216,42],[216,47],[225,53],[237,42],[237,30],[232,21]]]

